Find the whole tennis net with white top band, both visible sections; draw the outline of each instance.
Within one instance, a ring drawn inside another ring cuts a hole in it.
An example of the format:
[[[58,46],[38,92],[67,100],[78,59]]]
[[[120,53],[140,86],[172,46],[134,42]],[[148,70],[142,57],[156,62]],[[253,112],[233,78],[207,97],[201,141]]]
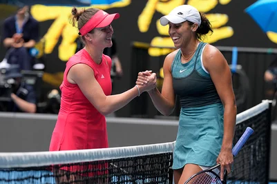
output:
[[[229,183],[267,183],[269,101],[238,114],[234,143],[254,134],[236,156]],[[0,183],[173,183],[175,142],[60,152],[0,153]]]

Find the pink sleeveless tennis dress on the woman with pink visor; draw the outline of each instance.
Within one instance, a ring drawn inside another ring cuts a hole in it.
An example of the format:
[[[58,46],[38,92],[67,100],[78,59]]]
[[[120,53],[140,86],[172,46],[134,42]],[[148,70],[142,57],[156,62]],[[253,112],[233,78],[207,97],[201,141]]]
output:
[[[94,71],[95,79],[106,95],[111,94],[111,58],[102,56],[97,65],[82,49],[66,63],[64,81],[61,83],[61,107],[50,141],[50,151],[84,150],[108,147],[105,116],[86,99],[77,84],[67,80],[73,65],[84,63]]]

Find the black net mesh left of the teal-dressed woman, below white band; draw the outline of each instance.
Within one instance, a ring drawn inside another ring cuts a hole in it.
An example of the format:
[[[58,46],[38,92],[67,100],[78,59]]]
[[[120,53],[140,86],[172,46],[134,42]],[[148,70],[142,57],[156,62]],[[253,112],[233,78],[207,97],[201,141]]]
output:
[[[2,169],[0,183],[172,183],[172,152],[124,159]]]

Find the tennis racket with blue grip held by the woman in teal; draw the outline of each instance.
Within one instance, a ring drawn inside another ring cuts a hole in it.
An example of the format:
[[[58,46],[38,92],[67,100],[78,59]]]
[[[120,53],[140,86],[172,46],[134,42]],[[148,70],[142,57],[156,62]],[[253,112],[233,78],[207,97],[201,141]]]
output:
[[[245,144],[245,142],[247,141],[247,139],[249,138],[249,136],[251,136],[251,134],[253,132],[254,132],[254,130],[252,130],[251,127],[247,127],[245,132],[242,134],[242,136],[238,140],[238,143],[236,143],[236,145],[232,149],[233,156],[236,156],[238,154],[238,152],[240,151],[242,146]],[[193,183],[226,184],[227,171],[225,170],[224,179],[223,179],[223,181],[221,181],[220,176],[218,176],[218,172],[216,172],[215,170],[220,171],[220,164],[210,167],[207,170],[202,170],[201,172],[194,174],[184,184],[193,184]]]

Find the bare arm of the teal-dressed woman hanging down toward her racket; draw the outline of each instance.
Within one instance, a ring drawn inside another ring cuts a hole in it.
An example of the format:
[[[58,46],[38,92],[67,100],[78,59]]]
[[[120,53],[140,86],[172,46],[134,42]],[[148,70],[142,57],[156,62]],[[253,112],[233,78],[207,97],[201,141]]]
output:
[[[211,79],[216,86],[216,90],[225,109],[224,135],[218,162],[223,166],[227,165],[227,170],[230,170],[229,164],[233,163],[231,149],[236,128],[237,113],[236,98],[233,93],[231,81],[231,71],[225,57],[223,57],[217,48],[212,45],[207,45],[203,53],[204,67],[211,75]],[[224,167],[222,167],[222,170],[224,170]],[[221,173],[223,174],[223,172]]]

